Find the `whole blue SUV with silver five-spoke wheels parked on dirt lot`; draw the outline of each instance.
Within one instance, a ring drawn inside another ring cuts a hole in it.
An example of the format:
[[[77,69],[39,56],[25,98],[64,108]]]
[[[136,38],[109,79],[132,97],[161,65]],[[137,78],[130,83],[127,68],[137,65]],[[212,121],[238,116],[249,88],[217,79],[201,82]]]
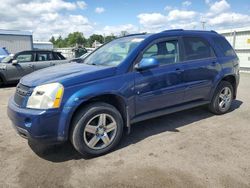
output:
[[[238,57],[214,31],[135,34],[103,45],[82,63],[23,77],[8,115],[25,138],[70,140],[81,154],[98,156],[135,122],[200,105],[228,112],[238,83]]]

